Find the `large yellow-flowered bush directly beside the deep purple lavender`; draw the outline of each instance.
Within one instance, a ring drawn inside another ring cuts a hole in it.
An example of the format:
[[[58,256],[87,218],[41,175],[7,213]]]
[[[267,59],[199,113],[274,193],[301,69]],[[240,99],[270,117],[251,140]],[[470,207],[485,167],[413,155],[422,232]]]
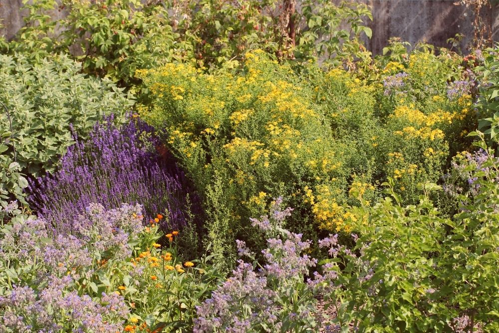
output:
[[[210,237],[226,246],[241,232],[261,242],[246,227],[272,196],[286,195],[303,212],[310,212],[305,201],[312,189],[341,200],[352,156],[289,67],[262,51],[247,58],[240,76],[175,64],[140,74],[155,97],[143,116],[168,133],[172,153],[196,187],[206,189]],[[332,205],[324,220],[338,217],[341,207]],[[220,258],[230,256],[226,250],[217,250]]]

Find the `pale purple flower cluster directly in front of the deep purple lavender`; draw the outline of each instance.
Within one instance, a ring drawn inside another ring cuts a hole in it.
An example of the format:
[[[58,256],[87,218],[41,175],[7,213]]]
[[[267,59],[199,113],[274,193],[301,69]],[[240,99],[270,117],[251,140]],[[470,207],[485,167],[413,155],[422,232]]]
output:
[[[88,270],[96,251],[110,251],[119,258],[131,253],[128,242],[142,229],[140,214],[140,205],[125,204],[106,211],[102,205],[91,204],[85,215],[77,218],[73,234],[50,232],[44,219],[14,223],[11,231],[0,239],[0,259],[21,261],[23,265],[34,265],[41,260],[43,270],[38,270],[39,275]],[[73,277],[80,278],[79,273]]]

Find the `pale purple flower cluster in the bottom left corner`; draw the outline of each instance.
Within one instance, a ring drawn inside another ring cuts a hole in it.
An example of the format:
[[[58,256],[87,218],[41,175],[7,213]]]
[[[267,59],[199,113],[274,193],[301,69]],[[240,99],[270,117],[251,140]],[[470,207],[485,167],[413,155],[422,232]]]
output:
[[[123,330],[128,307],[122,296],[103,294],[101,302],[71,289],[70,276],[51,276],[46,287],[35,291],[14,286],[0,297],[0,332],[108,332]],[[9,330],[9,331],[7,331]]]

